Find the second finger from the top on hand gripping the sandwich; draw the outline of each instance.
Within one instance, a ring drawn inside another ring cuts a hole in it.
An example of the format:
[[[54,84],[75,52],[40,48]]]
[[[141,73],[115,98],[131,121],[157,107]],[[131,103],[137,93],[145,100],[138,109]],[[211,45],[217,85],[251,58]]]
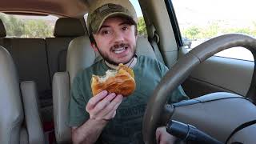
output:
[[[94,106],[94,109],[90,110],[90,113],[92,114],[98,114],[100,113],[106,106],[110,105],[110,102],[116,97],[116,94],[111,93],[108,94],[105,98],[102,99],[101,102],[98,102],[96,106]]]

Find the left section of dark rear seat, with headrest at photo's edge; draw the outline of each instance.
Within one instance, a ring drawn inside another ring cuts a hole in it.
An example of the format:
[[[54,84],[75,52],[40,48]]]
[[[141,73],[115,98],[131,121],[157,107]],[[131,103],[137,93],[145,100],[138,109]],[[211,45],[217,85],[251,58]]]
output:
[[[41,107],[51,106],[51,81],[47,66],[45,40],[42,38],[5,38],[6,30],[2,21],[0,30],[0,45],[4,46],[14,58],[19,81],[36,82]]]

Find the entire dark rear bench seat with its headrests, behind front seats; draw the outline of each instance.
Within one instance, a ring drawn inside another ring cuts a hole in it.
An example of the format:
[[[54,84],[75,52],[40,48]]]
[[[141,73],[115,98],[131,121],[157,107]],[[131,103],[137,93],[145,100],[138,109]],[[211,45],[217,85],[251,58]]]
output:
[[[78,19],[59,18],[54,27],[55,38],[6,38],[0,19],[0,46],[13,57],[19,81],[36,82],[43,122],[52,121],[52,76],[56,71],[66,71],[67,47],[73,38],[84,34]]]

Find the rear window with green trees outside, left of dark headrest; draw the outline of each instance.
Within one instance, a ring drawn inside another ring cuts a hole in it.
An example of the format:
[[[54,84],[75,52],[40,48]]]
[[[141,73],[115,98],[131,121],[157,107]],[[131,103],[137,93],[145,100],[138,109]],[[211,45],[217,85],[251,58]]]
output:
[[[26,16],[0,13],[9,38],[50,38],[54,37],[54,16]]]

